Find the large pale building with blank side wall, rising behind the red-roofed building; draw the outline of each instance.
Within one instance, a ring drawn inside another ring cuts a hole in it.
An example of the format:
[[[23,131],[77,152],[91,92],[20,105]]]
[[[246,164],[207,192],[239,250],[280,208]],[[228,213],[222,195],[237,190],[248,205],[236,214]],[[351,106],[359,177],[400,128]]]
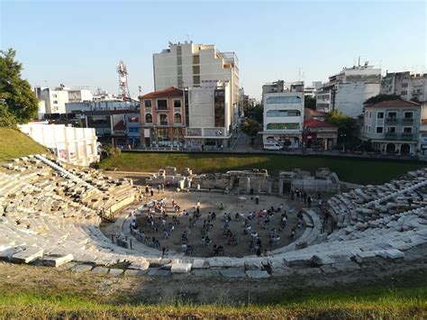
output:
[[[355,118],[363,114],[363,103],[379,94],[380,82],[381,69],[368,66],[368,62],[364,66],[344,68],[316,90],[316,109],[338,110]]]

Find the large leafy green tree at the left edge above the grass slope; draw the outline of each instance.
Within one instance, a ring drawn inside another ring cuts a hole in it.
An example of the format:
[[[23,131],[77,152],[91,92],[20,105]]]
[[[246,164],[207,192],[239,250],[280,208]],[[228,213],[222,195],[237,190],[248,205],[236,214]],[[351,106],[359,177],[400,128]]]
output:
[[[14,50],[0,50],[0,99],[18,123],[27,123],[36,117],[39,102],[28,81],[21,78],[22,63],[14,58]]]

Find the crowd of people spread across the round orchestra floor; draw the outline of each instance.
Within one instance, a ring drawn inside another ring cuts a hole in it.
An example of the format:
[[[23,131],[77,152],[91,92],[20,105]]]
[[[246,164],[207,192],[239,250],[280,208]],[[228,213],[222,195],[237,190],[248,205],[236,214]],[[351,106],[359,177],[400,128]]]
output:
[[[159,192],[161,190],[162,186],[159,187]],[[150,194],[152,188],[146,191]],[[311,206],[313,201],[304,190],[297,188],[291,190],[290,197],[293,200],[304,201],[308,206]],[[218,209],[221,211],[225,209],[223,203],[218,206]],[[210,251],[213,256],[223,255],[227,247],[238,246],[239,243],[248,240],[249,252],[261,256],[269,255],[271,250],[280,247],[282,239],[295,239],[297,230],[304,228],[302,211],[296,215],[292,214],[295,218],[292,220],[293,225],[289,225],[288,215],[291,214],[286,212],[283,204],[280,204],[277,207],[269,206],[267,209],[258,211],[240,211],[233,214],[223,212],[221,218],[217,220],[217,213],[213,211],[202,213],[200,200],[197,200],[192,208],[181,209],[174,199],[169,202],[167,198],[161,198],[147,204],[142,213],[143,218],[140,219],[141,226],[137,224],[136,215],[132,213],[131,230],[141,241],[160,248],[161,244],[167,247],[168,240],[177,226],[185,224],[180,236],[180,251],[186,255],[192,255],[195,246],[201,246],[205,251]],[[198,224],[202,219],[203,224]],[[193,231],[195,226],[200,224],[201,227],[196,232]],[[147,236],[144,230],[150,233],[150,236]],[[182,228],[180,227],[179,230]],[[194,235],[190,238],[192,231]],[[223,234],[222,239],[219,239],[218,233]],[[166,249],[163,250],[165,251]]]

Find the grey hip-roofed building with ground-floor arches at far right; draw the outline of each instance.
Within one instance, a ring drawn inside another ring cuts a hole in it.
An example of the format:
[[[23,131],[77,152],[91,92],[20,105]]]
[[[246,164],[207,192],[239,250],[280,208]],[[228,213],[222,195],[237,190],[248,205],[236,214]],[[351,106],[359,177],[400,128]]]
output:
[[[412,101],[383,101],[365,105],[362,139],[388,154],[415,154],[421,125],[421,105]]]

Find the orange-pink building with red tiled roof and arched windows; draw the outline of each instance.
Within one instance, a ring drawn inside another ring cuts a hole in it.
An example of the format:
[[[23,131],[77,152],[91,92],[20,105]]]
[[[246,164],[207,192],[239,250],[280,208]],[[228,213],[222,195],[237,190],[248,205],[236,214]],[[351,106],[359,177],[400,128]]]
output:
[[[177,87],[140,96],[141,145],[179,147],[186,133],[184,91]]]

